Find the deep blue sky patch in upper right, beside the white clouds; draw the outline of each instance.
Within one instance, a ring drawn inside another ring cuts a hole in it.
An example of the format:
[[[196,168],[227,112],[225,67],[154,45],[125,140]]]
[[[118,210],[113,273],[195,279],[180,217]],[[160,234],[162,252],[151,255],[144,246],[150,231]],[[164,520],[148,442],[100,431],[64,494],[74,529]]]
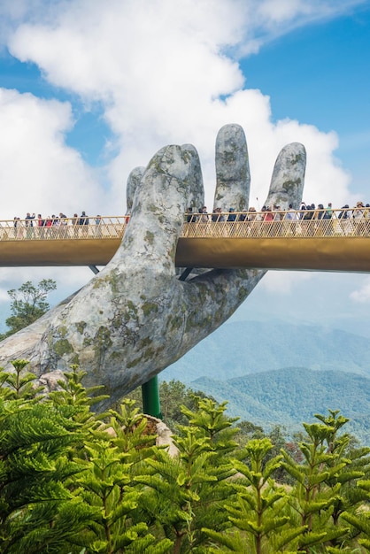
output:
[[[270,96],[277,119],[334,130],[336,156],[370,196],[370,4],[299,27],[243,59],[247,86]]]

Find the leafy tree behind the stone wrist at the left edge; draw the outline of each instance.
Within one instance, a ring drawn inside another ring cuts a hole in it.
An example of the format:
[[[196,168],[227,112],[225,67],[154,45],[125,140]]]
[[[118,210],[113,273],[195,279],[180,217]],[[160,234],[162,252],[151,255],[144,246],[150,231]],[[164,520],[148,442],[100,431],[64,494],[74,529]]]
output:
[[[57,289],[56,281],[42,279],[36,287],[31,281],[26,281],[17,290],[8,290],[8,295],[12,299],[12,315],[6,319],[5,323],[10,328],[4,335],[0,335],[0,340],[31,325],[47,312],[50,306],[46,302],[46,296],[55,289]]]

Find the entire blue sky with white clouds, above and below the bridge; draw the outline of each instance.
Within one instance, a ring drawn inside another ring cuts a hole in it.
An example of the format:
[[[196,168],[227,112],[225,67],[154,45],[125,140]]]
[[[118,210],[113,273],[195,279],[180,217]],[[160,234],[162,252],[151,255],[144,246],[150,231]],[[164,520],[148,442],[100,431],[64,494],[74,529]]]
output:
[[[0,0],[0,218],[124,213],[130,170],[184,142],[210,207],[234,122],[252,204],[289,142],[307,150],[306,202],[370,202],[369,91],[368,0]],[[0,324],[8,289],[50,277],[58,300],[91,275],[0,269]],[[369,310],[366,275],[270,272],[234,317],[370,336]]]

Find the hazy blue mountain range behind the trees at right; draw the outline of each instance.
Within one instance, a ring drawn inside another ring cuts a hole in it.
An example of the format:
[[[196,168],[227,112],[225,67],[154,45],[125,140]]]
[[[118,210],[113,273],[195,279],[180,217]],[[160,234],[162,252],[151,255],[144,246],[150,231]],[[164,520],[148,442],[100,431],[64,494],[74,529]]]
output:
[[[370,342],[363,336],[285,322],[225,324],[160,374],[218,401],[227,413],[294,432],[315,413],[340,410],[370,445]]]

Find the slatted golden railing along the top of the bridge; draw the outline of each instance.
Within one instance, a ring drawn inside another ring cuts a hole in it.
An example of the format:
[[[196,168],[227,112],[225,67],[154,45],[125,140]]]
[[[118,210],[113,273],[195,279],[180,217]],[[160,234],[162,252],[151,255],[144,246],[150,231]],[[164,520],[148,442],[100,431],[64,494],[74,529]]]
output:
[[[89,218],[89,223],[80,218],[5,219],[0,221],[0,241],[121,239],[128,220],[128,216]],[[370,237],[370,209],[185,214],[181,236],[257,239]]]

